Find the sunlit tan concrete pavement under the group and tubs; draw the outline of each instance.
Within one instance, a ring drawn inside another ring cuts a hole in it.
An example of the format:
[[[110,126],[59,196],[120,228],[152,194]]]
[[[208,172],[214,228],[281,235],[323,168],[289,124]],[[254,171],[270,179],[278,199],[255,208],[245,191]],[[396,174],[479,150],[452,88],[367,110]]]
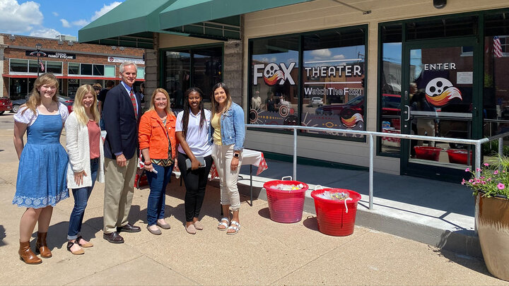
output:
[[[11,115],[0,117],[8,120]],[[18,158],[12,127],[1,128],[0,285],[509,285],[493,278],[479,258],[365,227],[348,237],[330,237],[318,232],[312,213],[281,224],[270,220],[267,201],[255,199],[250,206],[246,196],[241,197],[241,230],[227,235],[216,229],[221,218],[217,183],[206,190],[204,230],[187,234],[185,189],[175,177],[166,190],[166,220],[172,228],[162,235],[146,230],[149,190],[144,186],[135,190],[129,215],[141,232],[122,233],[124,244],[106,242],[104,185],[96,184],[82,228],[94,246],[82,256],[66,250],[71,197],[54,208],[48,234],[53,257],[26,265],[17,254],[24,209],[11,204]]]

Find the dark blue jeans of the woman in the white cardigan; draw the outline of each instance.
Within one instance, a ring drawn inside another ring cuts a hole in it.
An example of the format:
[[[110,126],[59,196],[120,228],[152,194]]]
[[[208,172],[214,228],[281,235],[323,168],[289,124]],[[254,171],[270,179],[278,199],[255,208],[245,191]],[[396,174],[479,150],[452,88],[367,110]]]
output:
[[[78,233],[81,232],[81,224],[83,223],[83,215],[85,215],[85,208],[92,193],[95,179],[97,178],[97,172],[99,168],[99,158],[90,160],[90,173],[88,176],[92,176],[92,186],[84,186],[80,189],[72,189],[74,196],[74,208],[69,218],[69,231],[67,232],[67,239],[72,240],[78,237]]]

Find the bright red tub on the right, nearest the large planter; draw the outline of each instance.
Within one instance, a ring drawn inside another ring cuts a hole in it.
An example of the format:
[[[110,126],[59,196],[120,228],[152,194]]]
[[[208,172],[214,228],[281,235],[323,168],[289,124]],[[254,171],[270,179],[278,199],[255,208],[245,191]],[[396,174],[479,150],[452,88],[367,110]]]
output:
[[[346,200],[345,204],[345,200],[330,200],[318,196],[325,191],[349,193],[351,200]],[[361,200],[360,193],[346,189],[321,189],[312,191],[311,196],[315,199],[318,230],[320,232],[334,237],[346,237],[353,234],[357,203]]]

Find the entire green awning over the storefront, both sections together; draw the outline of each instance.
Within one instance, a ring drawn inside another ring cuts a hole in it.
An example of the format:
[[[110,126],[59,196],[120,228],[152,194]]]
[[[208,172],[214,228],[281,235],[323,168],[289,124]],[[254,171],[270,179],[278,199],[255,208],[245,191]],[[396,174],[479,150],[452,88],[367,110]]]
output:
[[[78,31],[78,42],[153,48],[153,33],[240,39],[240,15],[313,0],[126,0]]]

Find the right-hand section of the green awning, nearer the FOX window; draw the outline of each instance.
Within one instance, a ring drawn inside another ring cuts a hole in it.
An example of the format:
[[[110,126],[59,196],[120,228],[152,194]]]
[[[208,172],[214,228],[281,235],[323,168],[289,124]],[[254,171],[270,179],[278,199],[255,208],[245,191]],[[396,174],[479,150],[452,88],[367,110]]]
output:
[[[176,0],[159,13],[160,29],[240,39],[240,15],[313,0]]]

